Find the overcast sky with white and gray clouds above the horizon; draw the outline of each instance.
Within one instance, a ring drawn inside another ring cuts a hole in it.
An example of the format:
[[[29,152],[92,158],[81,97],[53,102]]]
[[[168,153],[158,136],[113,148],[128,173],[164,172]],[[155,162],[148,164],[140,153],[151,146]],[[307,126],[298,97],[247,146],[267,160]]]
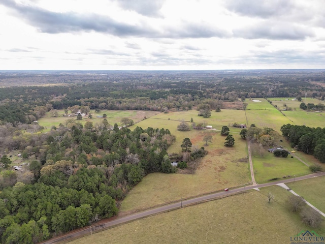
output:
[[[0,0],[0,70],[323,68],[324,0]]]

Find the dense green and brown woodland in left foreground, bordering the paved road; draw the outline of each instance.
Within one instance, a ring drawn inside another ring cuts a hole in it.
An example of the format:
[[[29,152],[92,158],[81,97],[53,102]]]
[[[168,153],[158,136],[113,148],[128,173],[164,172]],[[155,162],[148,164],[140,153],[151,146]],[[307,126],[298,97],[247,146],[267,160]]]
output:
[[[30,171],[1,175],[3,243],[35,243],[112,217],[118,212],[115,200],[123,199],[146,174],[176,171],[166,151],[175,139],[169,130],[130,131],[117,124],[112,130],[96,130],[91,124],[83,127],[74,120],[68,127],[37,134],[22,153],[35,157]],[[205,154],[194,148],[189,159]]]

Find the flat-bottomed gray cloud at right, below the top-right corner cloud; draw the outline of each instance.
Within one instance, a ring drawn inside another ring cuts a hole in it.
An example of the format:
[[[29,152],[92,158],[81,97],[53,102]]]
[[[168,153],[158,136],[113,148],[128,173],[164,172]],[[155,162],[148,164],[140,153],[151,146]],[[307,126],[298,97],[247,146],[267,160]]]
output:
[[[241,29],[234,29],[234,36],[245,39],[304,40],[314,37],[307,26],[297,24],[264,21]]]

